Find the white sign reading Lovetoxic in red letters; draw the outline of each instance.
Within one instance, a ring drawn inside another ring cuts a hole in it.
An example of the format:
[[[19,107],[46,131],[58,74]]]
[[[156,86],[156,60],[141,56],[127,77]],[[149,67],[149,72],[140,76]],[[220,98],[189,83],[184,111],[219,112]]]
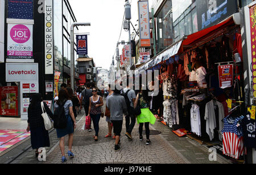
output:
[[[6,63],[6,82],[38,81],[38,63]]]

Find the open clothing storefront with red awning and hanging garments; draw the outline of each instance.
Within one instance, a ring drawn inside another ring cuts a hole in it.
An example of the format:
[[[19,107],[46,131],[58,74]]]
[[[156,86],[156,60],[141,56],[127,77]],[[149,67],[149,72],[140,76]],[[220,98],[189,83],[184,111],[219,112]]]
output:
[[[248,162],[245,145],[256,147],[256,143],[248,144],[255,131],[251,130],[250,138],[246,135],[244,123],[251,115],[245,106],[241,28],[232,16],[177,41],[135,74],[143,70],[159,70],[159,94],[163,97],[153,97],[153,104],[155,98],[163,105],[152,111],[162,123],[178,136],[187,135],[209,148],[219,148],[217,151],[228,159]],[[227,124],[235,123],[240,127],[234,127],[237,135],[233,137],[239,139],[232,142],[226,137],[231,133]],[[238,153],[230,149],[237,143],[242,145],[237,147]]]

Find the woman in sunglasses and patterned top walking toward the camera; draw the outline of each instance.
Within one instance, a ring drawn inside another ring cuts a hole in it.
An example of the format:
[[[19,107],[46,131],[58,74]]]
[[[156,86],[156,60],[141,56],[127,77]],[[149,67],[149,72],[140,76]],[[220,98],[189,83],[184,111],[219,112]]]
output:
[[[98,131],[99,131],[99,125],[101,119],[101,106],[104,105],[102,97],[100,95],[97,95],[97,87],[92,88],[92,97],[90,97],[90,105],[89,105],[89,115],[90,118],[92,118],[93,121],[93,127],[95,130],[95,136],[94,140],[98,141]]]

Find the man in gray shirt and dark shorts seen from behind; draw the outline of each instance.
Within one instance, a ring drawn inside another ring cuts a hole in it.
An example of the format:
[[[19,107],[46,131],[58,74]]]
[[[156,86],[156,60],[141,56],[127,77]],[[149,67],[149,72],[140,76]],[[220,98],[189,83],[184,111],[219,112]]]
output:
[[[113,124],[115,134],[115,151],[120,149],[120,136],[123,126],[123,114],[127,112],[125,98],[120,95],[119,90],[108,98],[106,106],[110,110],[110,120]]]

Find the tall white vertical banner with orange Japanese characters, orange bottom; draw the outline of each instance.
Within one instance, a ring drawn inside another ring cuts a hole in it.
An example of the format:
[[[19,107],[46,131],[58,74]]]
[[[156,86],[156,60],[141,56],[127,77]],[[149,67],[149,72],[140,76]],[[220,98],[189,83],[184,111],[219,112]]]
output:
[[[139,36],[141,47],[150,47],[150,16],[148,1],[138,1],[139,10]]]

